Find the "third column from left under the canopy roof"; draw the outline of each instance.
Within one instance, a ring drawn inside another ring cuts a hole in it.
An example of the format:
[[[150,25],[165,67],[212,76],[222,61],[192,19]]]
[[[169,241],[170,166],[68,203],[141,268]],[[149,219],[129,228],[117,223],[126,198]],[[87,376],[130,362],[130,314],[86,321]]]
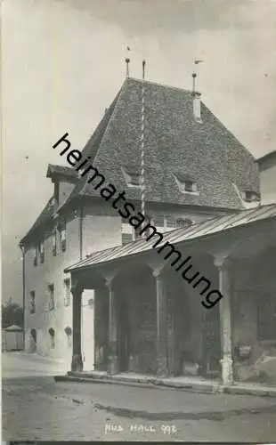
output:
[[[167,354],[166,354],[166,288],[164,277],[159,270],[152,272],[156,279],[157,296],[157,374],[158,376],[168,376]]]

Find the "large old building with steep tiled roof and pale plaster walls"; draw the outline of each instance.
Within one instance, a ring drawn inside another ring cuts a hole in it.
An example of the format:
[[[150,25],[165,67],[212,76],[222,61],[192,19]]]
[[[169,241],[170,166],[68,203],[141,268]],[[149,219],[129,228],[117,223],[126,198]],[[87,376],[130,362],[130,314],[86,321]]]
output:
[[[255,159],[207,109],[199,93],[126,78],[86,143],[82,158],[89,158],[117,190],[126,190],[129,202],[140,208],[142,85],[145,213],[158,231],[196,226],[259,206]],[[55,145],[58,159],[64,140]],[[76,166],[67,159],[69,165]],[[20,241],[25,348],[67,360],[68,364],[74,334],[73,303],[77,299],[72,298],[70,289],[74,287],[64,269],[85,260],[86,255],[120,248],[139,236],[77,166],[48,166],[53,196]],[[99,363],[104,368],[107,360],[108,330],[106,325],[98,327],[108,306],[99,306],[95,295],[94,287],[86,287],[82,295],[79,329],[81,361],[86,369],[99,367]],[[144,311],[148,309],[145,301]],[[126,320],[126,314],[121,317]],[[147,351],[145,354],[151,353],[150,346]],[[126,355],[123,368],[128,367]],[[135,359],[130,368],[134,367]]]

